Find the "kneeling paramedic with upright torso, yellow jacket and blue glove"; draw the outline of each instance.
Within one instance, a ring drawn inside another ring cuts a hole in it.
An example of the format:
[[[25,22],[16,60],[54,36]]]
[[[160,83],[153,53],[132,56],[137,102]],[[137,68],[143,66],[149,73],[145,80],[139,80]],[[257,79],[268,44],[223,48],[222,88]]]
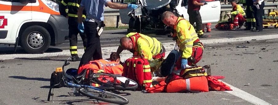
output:
[[[170,11],[165,11],[162,14],[161,20],[164,24],[175,30],[172,36],[176,40],[181,53],[181,58],[176,63],[177,69],[185,69],[199,62],[202,58],[204,47],[193,25]]]

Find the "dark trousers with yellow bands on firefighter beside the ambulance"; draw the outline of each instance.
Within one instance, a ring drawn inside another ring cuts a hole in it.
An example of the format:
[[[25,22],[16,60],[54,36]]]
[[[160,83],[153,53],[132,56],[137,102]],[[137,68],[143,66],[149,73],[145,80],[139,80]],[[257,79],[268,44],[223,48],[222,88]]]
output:
[[[71,56],[77,55],[77,35],[81,36],[83,41],[83,46],[86,47],[87,45],[87,37],[85,33],[79,32],[78,26],[78,19],[76,17],[69,17],[68,24],[69,24],[69,39],[70,39],[70,54]]]

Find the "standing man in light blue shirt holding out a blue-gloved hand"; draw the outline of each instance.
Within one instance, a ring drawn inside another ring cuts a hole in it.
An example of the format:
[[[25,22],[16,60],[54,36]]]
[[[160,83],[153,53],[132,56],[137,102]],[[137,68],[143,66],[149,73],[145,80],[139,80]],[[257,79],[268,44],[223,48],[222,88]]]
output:
[[[137,5],[134,4],[117,4],[111,2],[111,0],[82,0],[80,8],[78,9],[78,29],[85,33],[88,38],[87,48],[83,54],[79,67],[88,63],[93,57],[94,60],[102,59],[100,35],[97,27],[101,27],[101,22],[104,20],[104,7],[108,6],[112,9],[137,9]],[[86,11],[86,19],[83,25],[82,23],[82,11]],[[103,26],[103,25],[102,25]]]

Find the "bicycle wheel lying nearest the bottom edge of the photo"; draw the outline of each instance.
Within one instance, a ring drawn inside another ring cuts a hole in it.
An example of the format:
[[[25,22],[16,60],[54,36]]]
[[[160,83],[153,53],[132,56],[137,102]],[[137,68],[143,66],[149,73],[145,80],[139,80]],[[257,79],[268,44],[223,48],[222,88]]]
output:
[[[92,88],[80,88],[78,91],[85,96],[108,103],[116,103],[121,105],[129,103],[125,97],[107,91],[101,92]]]

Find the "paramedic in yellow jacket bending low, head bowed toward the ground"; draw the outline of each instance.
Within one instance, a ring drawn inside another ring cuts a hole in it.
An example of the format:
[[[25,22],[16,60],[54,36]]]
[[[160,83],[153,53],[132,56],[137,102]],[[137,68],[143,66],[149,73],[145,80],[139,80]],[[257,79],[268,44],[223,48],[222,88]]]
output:
[[[133,56],[142,56],[149,61],[165,57],[165,48],[156,38],[131,32],[120,39],[121,45],[117,49],[117,54],[123,50],[129,50]]]

